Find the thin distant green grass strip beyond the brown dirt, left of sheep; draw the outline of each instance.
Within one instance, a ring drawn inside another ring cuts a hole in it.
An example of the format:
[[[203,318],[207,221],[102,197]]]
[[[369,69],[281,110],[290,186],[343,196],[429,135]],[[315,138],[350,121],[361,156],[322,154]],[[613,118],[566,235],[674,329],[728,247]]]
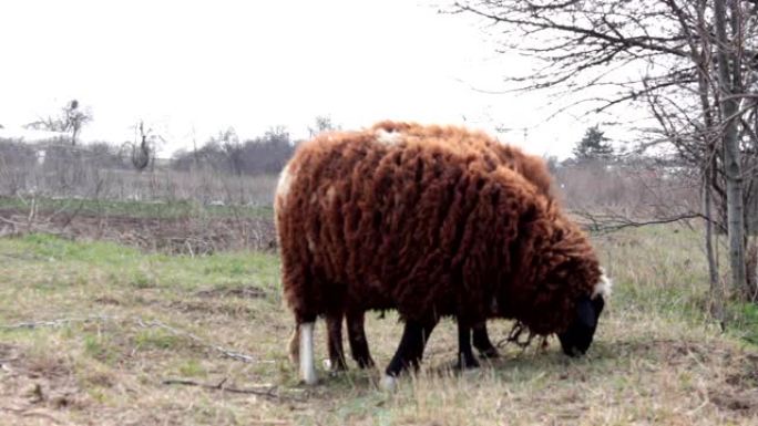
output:
[[[273,215],[273,209],[268,206],[203,206],[199,202],[187,200],[150,202],[73,198],[53,199],[40,197],[35,200],[35,204],[38,211],[42,212],[76,212],[88,216],[123,216],[131,218],[268,218]],[[30,200],[24,200],[18,197],[0,197],[0,209],[29,211],[30,207]]]

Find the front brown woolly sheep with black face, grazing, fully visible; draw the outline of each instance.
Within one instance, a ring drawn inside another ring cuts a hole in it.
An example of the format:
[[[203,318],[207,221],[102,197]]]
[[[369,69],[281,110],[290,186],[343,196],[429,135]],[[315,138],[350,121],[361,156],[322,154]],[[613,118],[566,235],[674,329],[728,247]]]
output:
[[[570,354],[590,346],[605,281],[586,236],[520,173],[442,134],[321,135],[283,170],[283,287],[306,383],[318,315],[397,309],[406,328],[388,384],[418,365],[443,315],[458,320],[461,353],[493,316],[559,333]]]

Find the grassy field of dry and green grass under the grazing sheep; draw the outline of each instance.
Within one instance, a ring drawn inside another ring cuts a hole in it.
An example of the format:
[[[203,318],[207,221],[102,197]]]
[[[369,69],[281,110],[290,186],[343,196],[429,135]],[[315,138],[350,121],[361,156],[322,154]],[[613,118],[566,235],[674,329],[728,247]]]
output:
[[[272,253],[0,239],[0,424],[758,424],[758,313],[733,306],[727,333],[704,318],[699,235],[647,228],[595,243],[615,292],[587,356],[570,360],[554,340],[506,345],[458,374],[448,320],[422,371],[388,394],[378,370],[298,383]],[[509,329],[491,322],[495,340]],[[397,318],[371,314],[367,330],[383,367]],[[322,322],[317,334],[324,359]]]

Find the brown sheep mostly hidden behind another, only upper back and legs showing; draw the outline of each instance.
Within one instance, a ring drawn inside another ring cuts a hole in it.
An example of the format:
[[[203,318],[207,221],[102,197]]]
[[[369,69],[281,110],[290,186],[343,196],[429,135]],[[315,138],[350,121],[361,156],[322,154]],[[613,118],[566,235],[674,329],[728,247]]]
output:
[[[481,160],[488,164],[499,164],[519,172],[526,180],[534,184],[540,193],[551,196],[552,178],[542,158],[525,154],[516,147],[501,144],[482,132],[454,126],[424,126],[418,123],[391,121],[377,123],[371,127],[371,131],[386,142],[398,143],[403,137],[410,135],[414,138],[434,138],[440,142],[448,142],[459,148],[471,148],[473,154],[481,156]],[[346,309],[350,352],[361,368],[373,365],[366,339],[363,315],[363,312],[356,312],[349,309],[349,306]],[[327,319],[329,361],[336,370],[347,368],[345,351],[342,349],[341,328],[341,319]],[[299,342],[299,333],[296,330],[289,344],[290,360],[293,362],[297,362],[297,342]],[[482,356],[498,356],[498,350],[490,341],[485,323],[474,325],[473,344]],[[473,354],[462,353],[459,355],[458,365],[461,367],[473,367],[478,366],[479,363],[473,357]]]

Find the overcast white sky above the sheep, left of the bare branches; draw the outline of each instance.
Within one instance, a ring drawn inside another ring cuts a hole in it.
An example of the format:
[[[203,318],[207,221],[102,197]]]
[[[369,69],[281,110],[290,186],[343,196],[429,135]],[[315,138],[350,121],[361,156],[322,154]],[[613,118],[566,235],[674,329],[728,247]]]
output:
[[[430,2],[24,0],[0,7],[3,134],[76,98],[84,139],[124,142],[139,120],[166,155],[227,127],[254,137],[317,115],[345,128],[386,118],[529,127],[501,135],[566,156],[586,123],[544,118],[541,95],[484,94],[524,71],[470,17]]]

